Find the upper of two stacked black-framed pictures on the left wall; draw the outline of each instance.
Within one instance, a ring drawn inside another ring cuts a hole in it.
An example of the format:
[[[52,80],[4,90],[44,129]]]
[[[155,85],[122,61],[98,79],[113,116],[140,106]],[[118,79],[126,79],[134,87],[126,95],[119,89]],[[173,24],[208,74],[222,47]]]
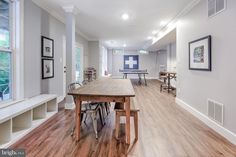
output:
[[[53,58],[54,56],[54,40],[44,37],[41,37],[42,42],[42,57]]]

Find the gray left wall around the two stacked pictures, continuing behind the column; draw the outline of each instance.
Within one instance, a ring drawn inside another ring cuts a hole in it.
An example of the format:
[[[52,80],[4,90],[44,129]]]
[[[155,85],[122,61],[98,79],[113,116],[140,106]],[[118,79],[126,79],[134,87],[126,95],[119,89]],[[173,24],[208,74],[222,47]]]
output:
[[[24,74],[25,97],[40,93],[63,95],[63,37],[65,24],[39,8],[31,0],[24,6]],[[54,78],[41,79],[41,35],[54,39]],[[84,67],[88,66],[88,41],[76,34],[76,42],[84,48]]]

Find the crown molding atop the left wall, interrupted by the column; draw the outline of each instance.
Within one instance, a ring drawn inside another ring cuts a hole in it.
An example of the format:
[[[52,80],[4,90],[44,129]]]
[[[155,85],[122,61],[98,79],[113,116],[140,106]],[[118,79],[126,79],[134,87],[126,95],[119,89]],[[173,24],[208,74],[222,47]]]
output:
[[[40,8],[42,8],[43,10],[45,10],[46,12],[48,12],[51,16],[53,16],[54,18],[56,18],[58,21],[62,22],[63,24],[66,24],[66,20],[65,17],[62,17],[61,15],[59,15],[58,13],[56,13],[55,11],[53,11],[52,9],[50,9],[47,5],[45,5],[42,0],[32,0],[37,6],[39,6]],[[81,31],[78,30],[78,28],[76,28],[75,30],[76,33],[78,33],[80,36],[82,36],[83,38],[85,38],[87,41],[91,41],[91,39],[85,35],[84,33],[82,33]]]

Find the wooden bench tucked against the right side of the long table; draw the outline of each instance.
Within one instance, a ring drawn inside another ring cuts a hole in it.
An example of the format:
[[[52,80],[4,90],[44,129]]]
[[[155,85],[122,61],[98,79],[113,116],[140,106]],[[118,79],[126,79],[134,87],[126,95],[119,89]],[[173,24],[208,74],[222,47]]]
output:
[[[135,108],[135,98],[130,99],[130,116],[134,118],[134,130],[135,130],[135,140],[138,140],[138,112],[139,109]],[[116,112],[116,131],[115,136],[119,138],[119,128],[120,128],[120,117],[125,116],[124,104],[123,103],[116,103],[115,108]]]

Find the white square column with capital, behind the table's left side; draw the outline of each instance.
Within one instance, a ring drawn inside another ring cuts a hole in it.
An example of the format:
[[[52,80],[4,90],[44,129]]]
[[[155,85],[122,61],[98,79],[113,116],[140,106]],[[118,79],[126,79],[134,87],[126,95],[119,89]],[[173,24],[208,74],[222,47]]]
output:
[[[75,82],[75,15],[77,10],[74,6],[64,6],[66,13],[66,89]],[[66,109],[74,107],[72,96],[66,96]]]

